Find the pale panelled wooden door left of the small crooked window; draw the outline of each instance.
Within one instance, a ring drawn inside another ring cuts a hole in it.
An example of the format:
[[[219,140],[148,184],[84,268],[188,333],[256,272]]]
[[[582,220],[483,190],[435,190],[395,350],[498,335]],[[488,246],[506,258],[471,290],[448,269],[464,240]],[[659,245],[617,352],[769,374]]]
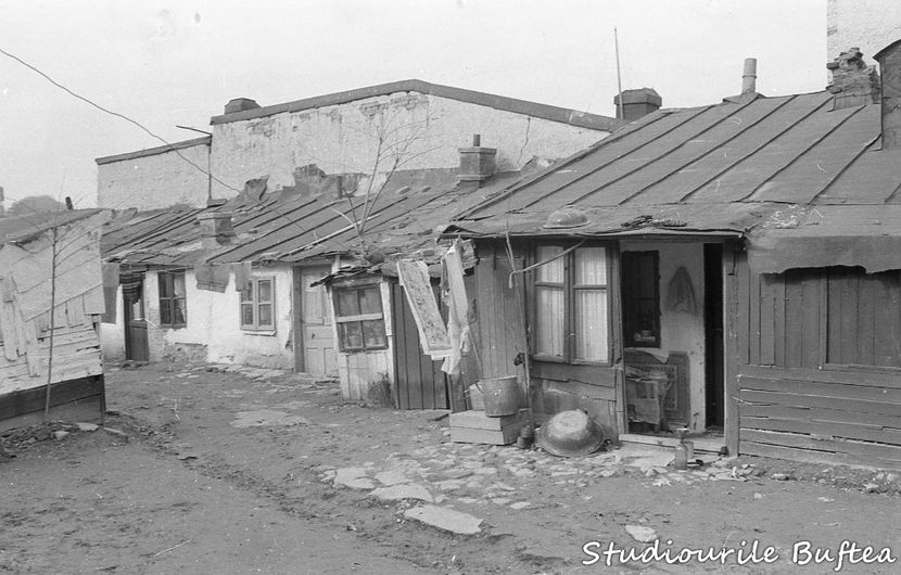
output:
[[[325,285],[310,285],[330,271],[328,266],[301,269],[301,342],[304,371],[316,375],[338,375],[331,306]]]

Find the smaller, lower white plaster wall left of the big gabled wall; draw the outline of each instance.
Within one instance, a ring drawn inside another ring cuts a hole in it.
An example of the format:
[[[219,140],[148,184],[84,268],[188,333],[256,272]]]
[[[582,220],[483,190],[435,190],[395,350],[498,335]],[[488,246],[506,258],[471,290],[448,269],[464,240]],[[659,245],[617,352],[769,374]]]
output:
[[[194,145],[178,153],[204,170],[208,146]],[[174,204],[206,205],[207,176],[178,156],[164,152],[97,166],[97,205],[112,209],[150,209]]]

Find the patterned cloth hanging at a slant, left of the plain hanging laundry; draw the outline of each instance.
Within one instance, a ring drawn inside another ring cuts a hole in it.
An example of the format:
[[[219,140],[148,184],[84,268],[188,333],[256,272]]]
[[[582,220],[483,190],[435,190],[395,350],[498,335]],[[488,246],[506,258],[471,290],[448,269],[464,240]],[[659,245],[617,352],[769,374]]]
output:
[[[397,277],[413,310],[422,353],[432,359],[448,357],[451,340],[441,319],[426,263],[401,259],[397,261]]]

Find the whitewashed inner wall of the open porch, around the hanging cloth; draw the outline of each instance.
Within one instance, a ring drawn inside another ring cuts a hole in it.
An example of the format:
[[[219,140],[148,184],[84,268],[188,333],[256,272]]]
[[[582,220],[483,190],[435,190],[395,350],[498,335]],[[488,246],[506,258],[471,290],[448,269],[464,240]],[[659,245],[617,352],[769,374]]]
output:
[[[690,417],[694,418],[694,429],[705,429],[705,324],[703,324],[703,245],[690,243],[661,243],[661,242],[623,242],[623,252],[659,252],[660,264],[660,350],[684,352],[688,354],[688,374],[690,380]],[[672,311],[667,309],[668,284],[680,267],[685,267],[691,277],[691,286],[695,290],[697,311]],[[647,348],[639,348],[646,350]],[[690,424],[690,423],[689,423]]]

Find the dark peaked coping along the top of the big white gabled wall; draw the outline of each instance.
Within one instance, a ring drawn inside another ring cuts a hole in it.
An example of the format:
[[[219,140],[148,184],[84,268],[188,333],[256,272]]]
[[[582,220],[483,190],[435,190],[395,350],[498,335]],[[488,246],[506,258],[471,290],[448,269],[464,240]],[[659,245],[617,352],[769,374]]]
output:
[[[612,132],[614,129],[625,124],[622,120],[611,118],[608,116],[601,116],[599,114],[589,114],[587,112],[579,112],[575,110],[569,110],[549,104],[541,104],[528,100],[508,98],[506,95],[497,95],[487,92],[478,92],[474,90],[467,90],[464,88],[454,88],[453,86],[442,86],[440,84],[432,84],[418,79],[379,84],[376,86],[356,88],[354,90],[346,90],[343,92],[334,92],[323,95],[316,95],[313,98],[305,98],[303,100],[295,100],[293,102],[285,102],[283,104],[275,104],[254,110],[245,110],[242,112],[234,112],[232,114],[223,114],[210,118],[210,124],[216,126],[219,124],[229,124],[231,122],[261,118],[266,116],[272,116],[276,114],[302,112],[304,110],[313,110],[317,107],[346,104],[348,102],[354,102],[356,100],[375,98],[377,95],[388,95],[396,92],[420,92],[429,95],[436,95],[439,98],[447,98],[451,100],[458,100],[460,102],[469,102],[472,104],[493,107],[495,110],[515,112],[518,114],[524,114],[542,119],[559,122],[562,124],[569,124],[570,126],[588,128],[593,130],[604,130]]]

